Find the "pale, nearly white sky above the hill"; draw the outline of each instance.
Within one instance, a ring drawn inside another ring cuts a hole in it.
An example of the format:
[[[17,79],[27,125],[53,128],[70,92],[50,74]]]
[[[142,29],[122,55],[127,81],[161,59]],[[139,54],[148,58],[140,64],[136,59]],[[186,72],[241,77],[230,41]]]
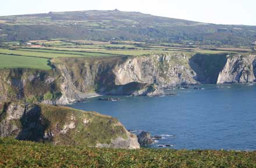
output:
[[[75,10],[122,10],[205,23],[256,25],[255,0],[8,0],[0,16]]]

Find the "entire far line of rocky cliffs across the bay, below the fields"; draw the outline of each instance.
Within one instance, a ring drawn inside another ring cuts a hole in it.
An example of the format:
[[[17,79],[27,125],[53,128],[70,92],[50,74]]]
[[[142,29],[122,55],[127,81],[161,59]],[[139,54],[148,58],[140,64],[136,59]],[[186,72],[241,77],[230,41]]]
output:
[[[59,58],[51,71],[0,70],[0,101],[68,104],[95,94],[154,96],[162,88],[255,81],[253,54],[172,53]]]

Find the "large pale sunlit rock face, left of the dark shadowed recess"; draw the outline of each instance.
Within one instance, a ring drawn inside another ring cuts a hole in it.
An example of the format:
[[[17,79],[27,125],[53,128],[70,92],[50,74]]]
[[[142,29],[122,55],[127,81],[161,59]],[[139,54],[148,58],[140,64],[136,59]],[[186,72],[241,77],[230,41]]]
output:
[[[155,83],[160,87],[195,84],[195,72],[185,53],[131,57],[113,69],[115,85]]]

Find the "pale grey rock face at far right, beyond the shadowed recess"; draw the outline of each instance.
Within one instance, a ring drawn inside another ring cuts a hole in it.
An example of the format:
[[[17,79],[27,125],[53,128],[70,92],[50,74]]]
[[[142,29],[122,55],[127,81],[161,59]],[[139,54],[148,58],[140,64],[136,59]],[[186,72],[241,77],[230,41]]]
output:
[[[218,76],[218,84],[255,82],[256,55],[227,56],[227,63]]]

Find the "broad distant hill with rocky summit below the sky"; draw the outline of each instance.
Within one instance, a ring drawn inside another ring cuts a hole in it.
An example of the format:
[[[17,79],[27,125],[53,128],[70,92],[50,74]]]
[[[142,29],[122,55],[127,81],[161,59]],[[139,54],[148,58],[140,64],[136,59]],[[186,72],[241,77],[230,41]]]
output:
[[[251,45],[256,41],[256,26],[199,23],[119,10],[0,17],[0,41],[49,38]]]

